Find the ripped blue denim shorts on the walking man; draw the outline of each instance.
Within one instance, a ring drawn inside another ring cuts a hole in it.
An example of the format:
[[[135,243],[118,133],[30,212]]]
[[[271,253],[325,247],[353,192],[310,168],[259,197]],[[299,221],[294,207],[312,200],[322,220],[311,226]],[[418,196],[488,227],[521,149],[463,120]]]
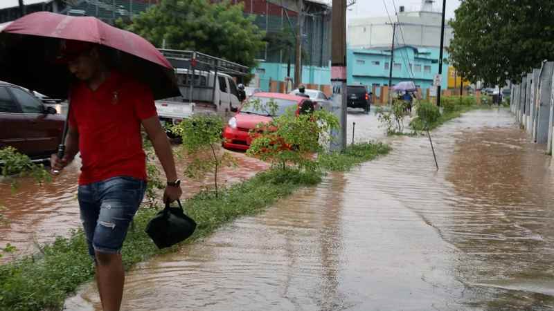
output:
[[[118,176],[79,186],[78,198],[89,254],[118,254],[141,205],[146,182]]]

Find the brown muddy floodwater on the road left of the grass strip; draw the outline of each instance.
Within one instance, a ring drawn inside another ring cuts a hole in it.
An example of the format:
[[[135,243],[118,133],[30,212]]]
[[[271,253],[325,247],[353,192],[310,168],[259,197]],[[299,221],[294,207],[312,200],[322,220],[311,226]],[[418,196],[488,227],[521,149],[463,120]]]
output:
[[[174,151],[179,153],[181,149],[175,147]],[[222,185],[249,178],[267,168],[267,164],[247,158],[244,153],[232,154],[240,169],[222,169],[218,178]],[[177,160],[181,176],[186,163],[186,157]],[[37,185],[32,178],[18,178],[17,189],[12,189],[12,180],[0,180],[0,206],[6,208],[1,211],[6,223],[0,223],[0,248],[8,243],[17,247],[17,252],[1,258],[0,263],[37,252],[37,245],[53,242],[57,236],[68,236],[71,229],[80,227],[77,201],[79,169],[80,160],[77,158],[60,176],[53,177],[52,182]],[[213,185],[213,174],[199,180],[182,179],[184,198]]]

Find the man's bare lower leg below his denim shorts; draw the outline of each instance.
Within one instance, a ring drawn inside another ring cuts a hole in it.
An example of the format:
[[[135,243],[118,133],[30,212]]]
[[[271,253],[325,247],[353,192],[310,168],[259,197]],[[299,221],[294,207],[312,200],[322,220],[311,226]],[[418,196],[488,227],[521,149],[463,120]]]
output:
[[[125,272],[121,254],[96,252],[96,281],[104,311],[119,311],[123,297]]]

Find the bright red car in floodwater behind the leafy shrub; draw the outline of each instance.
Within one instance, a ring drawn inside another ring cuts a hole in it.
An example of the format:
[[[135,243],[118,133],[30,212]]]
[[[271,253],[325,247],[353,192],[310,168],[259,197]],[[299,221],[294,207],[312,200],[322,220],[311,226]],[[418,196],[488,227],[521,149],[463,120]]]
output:
[[[256,109],[253,105],[242,106],[223,130],[225,149],[248,150],[252,141],[250,130],[256,129],[256,125],[260,123],[270,122],[273,117],[283,115],[291,106],[297,107],[296,113],[304,107],[310,107],[312,111],[317,109],[317,104],[309,98],[282,93],[256,93],[250,97],[250,100],[259,100],[261,106],[273,101],[278,109],[274,115],[271,115],[265,109]]]

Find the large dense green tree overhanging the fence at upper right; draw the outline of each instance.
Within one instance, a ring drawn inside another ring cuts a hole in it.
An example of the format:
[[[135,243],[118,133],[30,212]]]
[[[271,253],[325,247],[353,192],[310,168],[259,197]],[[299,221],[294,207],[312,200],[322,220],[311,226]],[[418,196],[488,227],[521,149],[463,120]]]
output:
[[[519,81],[554,55],[554,1],[463,0],[450,25],[450,60],[471,82]]]

